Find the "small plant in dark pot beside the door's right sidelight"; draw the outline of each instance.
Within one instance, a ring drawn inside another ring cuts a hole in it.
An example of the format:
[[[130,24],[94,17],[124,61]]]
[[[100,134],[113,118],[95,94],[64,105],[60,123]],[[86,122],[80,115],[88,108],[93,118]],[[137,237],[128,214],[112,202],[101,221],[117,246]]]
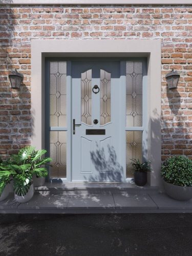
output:
[[[147,172],[151,172],[151,161],[145,161],[140,163],[139,159],[132,160],[132,166],[134,168],[134,180],[138,186],[144,186],[147,182]]]

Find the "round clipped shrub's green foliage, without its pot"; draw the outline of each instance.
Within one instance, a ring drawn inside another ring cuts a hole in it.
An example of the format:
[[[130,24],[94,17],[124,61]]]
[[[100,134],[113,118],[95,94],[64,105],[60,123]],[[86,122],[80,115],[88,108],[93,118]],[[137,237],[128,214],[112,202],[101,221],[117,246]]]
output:
[[[162,164],[161,176],[170,184],[192,186],[192,160],[184,156],[167,158]]]

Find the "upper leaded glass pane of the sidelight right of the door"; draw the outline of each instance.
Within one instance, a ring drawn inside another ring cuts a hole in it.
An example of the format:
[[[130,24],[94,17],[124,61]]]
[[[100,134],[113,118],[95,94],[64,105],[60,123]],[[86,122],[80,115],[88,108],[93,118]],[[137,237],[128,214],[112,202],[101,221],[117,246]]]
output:
[[[142,62],[126,61],[126,126],[142,126]]]

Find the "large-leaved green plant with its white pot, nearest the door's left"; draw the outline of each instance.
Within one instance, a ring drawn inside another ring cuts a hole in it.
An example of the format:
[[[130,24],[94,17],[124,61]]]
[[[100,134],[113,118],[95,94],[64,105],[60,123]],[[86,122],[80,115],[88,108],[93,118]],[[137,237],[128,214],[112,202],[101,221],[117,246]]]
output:
[[[46,177],[48,170],[42,166],[51,161],[49,157],[42,157],[47,151],[27,146],[17,155],[12,155],[9,168],[13,172],[13,190],[15,199],[24,203],[33,197],[33,176]]]

